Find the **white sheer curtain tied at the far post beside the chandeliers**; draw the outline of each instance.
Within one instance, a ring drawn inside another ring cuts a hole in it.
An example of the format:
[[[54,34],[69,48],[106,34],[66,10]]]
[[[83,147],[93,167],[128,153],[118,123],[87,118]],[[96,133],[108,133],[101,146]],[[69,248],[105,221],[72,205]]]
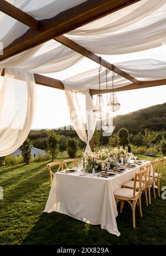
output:
[[[96,127],[96,118],[93,113],[94,103],[90,96],[89,90],[83,92],[86,98],[86,124],[84,123],[84,118],[82,116],[79,97],[79,92],[70,91],[68,87],[65,88],[66,101],[69,106],[69,113],[72,126],[76,130],[80,139],[86,143],[86,152],[91,152],[90,140],[94,134]],[[87,130],[87,133],[86,133]]]

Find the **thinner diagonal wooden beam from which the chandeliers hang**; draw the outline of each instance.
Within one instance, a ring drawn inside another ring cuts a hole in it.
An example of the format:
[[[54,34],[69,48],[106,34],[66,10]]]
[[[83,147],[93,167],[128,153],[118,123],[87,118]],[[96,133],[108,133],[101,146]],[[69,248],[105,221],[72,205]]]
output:
[[[61,44],[64,44],[64,46],[69,47],[70,49],[74,50],[75,52],[78,52],[81,55],[91,59],[92,61],[94,61],[98,64],[101,63],[101,65],[103,67],[108,68],[111,71],[115,71],[115,73],[120,74],[120,76],[125,77],[129,81],[131,81],[133,83],[136,83],[136,84],[140,84],[140,82],[136,78],[130,76],[126,72],[124,72],[121,69],[115,67],[113,64],[105,61],[104,59],[102,59],[100,57],[98,57],[96,54],[92,53],[91,51],[89,51],[89,50],[85,49],[84,47],[80,46],[79,44],[75,43],[74,41],[72,41],[68,37],[60,36],[60,37],[56,37],[55,40],[58,41]]]

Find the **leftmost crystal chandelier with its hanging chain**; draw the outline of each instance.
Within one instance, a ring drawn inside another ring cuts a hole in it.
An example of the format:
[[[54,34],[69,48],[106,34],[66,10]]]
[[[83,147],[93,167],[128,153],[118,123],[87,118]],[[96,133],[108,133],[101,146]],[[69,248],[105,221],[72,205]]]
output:
[[[101,60],[100,60],[101,63]],[[96,106],[94,109],[94,114],[96,116],[96,118],[98,119],[102,119],[103,117],[103,107],[104,107],[104,102],[103,102],[103,97],[100,94],[100,87],[101,87],[101,82],[100,82],[100,72],[101,72],[101,64],[100,64],[100,68],[98,69],[98,85],[99,85],[99,94],[97,95],[97,99],[96,99]]]

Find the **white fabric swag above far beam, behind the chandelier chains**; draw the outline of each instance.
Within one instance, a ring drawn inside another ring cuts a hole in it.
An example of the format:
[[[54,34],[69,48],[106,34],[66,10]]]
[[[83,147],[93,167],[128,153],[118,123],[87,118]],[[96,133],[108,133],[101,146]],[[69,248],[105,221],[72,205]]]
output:
[[[166,79],[166,62],[158,61],[156,59],[138,59],[135,61],[115,63],[115,66],[141,81]],[[108,89],[112,88],[111,76],[112,72],[108,71]],[[100,77],[101,89],[106,89],[106,68],[102,68]],[[98,68],[65,79],[63,83],[65,86],[70,87],[72,91],[98,89]],[[116,74],[114,88],[127,86],[131,83],[131,81]]]

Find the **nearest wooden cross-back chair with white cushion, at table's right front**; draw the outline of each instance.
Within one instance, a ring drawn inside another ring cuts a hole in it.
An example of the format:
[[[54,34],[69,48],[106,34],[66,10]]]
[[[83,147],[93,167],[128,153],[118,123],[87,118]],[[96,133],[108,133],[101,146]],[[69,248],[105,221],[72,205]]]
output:
[[[142,182],[143,177],[144,177],[144,180],[147,179],[146,167],[144,167],[139,172],[136,172],[133,189],[119,188],[113,192],[116,199],[116,203],[118,204],[118,202],[121,202],[120,213],[122,213],[122,209],[125,201],[131,205],[132,212],[133,212],[133,228],[136,228],[135,210],[136,210],[137,201],[139,203],[139,214],[141,215],[141,217],[143,216],[142,207],[141,207],[141,194],[143,190],[142,188],[144,187],[144,183]],[[139,184],[138,189],[137,189],[137,184]]]

